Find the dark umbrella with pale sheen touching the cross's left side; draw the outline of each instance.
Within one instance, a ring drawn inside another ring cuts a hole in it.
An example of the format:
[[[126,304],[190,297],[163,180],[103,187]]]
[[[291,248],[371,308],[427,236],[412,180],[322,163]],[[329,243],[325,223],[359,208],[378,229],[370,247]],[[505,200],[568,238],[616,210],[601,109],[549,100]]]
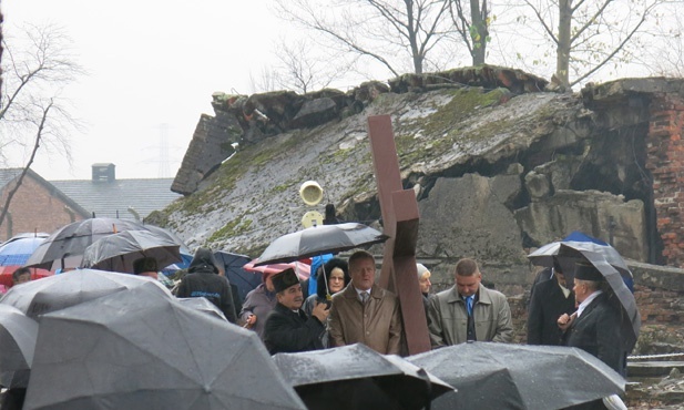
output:
[[[309,256],[334,254],[356,247],[379,244],[389,236],[357,223],[313,226],[283,235],[258,257],[258,265],[294,262]]]

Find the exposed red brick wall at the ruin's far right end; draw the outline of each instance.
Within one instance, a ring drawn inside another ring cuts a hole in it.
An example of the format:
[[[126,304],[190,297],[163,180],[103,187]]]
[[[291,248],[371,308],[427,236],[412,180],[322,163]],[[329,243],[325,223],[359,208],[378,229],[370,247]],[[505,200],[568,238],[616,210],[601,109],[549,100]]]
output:
[[[684,101],[654,95],[651,103],[646,168],[653,175],[657,232],[666,265],[684,266]]]

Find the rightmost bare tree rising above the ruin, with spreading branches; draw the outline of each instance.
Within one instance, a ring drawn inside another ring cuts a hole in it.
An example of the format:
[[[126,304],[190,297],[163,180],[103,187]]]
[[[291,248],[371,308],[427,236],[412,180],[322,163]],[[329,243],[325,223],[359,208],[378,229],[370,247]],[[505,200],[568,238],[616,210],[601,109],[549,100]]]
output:
[[[647,21],[661,18],[657,9],[667,0],[523,0],[543,35],[555,47],[554,81],[580,83],[610,62],[626,62]]]

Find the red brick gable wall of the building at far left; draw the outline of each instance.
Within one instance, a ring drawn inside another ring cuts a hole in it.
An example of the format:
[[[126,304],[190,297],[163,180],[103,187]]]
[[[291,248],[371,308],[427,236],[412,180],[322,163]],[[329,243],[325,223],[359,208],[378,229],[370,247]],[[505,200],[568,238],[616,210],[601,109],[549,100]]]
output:
[[[2,205],[7,201],[10,187],[6,187],[0,201]],[[27,232],[52,233],[57,228],[70,224],[71,216],[64,209],[67,204],[51,193],[40,183],[31,177],[24,177],[19,191],[10,203],[10,221],[6,221],[0,226],[0,239],[6,240],[13,235]],[[82,217],[75,215],[75,219]]]

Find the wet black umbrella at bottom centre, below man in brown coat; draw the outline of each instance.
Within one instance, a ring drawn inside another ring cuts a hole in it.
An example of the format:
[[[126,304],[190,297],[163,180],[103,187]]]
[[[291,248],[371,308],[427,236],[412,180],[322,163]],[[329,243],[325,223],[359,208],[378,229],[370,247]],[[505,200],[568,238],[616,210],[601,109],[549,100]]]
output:
[[[400,357],[361,344],[273,359],[308,409],[422,409],[453,391]]]

